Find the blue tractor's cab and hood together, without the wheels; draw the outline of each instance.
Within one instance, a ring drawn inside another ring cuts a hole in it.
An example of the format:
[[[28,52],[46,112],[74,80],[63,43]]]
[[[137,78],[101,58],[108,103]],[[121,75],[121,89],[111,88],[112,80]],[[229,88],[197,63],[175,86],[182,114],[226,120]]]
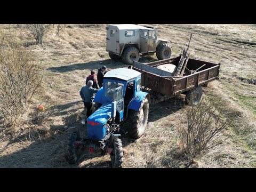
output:
[[[102,106],[87,118],[87,131],[90,137],[102,139],[107,130],[95,129],[96,126],[109,127],[109,124],[121,123],[126,119],[128,109],[137,105],[135,98],[141,92],[140,79],[141,73],[133,69],[113,69],[106,73],[103,87],[94,98],[94,102]]]

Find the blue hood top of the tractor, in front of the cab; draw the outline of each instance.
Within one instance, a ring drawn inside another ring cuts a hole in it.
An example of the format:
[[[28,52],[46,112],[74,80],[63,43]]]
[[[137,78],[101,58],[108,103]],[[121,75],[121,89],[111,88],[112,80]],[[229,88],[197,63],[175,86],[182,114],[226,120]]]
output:
[[[89,118],[87,118],[88,125],[104,125],[111,117],[111,102],[102,105]]]

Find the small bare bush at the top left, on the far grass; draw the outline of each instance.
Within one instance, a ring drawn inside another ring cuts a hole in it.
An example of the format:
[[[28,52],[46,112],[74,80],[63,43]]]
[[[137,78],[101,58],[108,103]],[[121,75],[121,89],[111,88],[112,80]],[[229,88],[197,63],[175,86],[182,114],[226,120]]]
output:
[[[43,47],[43,36],[47,33],[49,24],[28,24],[27,25],[31,34],[35,37],[36,43]]]

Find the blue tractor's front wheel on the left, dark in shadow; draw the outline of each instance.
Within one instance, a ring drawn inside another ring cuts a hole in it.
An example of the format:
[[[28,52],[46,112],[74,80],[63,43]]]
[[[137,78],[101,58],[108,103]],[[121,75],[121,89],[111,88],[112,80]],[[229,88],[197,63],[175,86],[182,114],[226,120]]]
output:
[[[67,160],[69,164],[75,164],[77,160],[77,148],[75,142],[80,140],[79,131],[77,133],[71,133],[68,137],[68,155]]]

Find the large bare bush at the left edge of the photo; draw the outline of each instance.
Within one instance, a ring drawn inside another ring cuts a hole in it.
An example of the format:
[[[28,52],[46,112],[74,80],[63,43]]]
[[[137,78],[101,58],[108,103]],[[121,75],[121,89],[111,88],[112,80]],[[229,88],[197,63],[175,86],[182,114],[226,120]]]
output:
[[[12,126],[28,108],[42,76],[30,52],[14,39],[0,39],[0,124]]]

